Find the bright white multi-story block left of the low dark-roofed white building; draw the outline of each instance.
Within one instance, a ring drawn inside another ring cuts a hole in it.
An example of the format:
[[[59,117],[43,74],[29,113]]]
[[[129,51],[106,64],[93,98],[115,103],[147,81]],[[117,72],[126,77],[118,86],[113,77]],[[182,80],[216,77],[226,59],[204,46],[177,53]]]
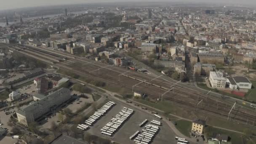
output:
[[[210,72],[209,81],[213,88],[226,87],[226,77],[223,77],[222,72]]]

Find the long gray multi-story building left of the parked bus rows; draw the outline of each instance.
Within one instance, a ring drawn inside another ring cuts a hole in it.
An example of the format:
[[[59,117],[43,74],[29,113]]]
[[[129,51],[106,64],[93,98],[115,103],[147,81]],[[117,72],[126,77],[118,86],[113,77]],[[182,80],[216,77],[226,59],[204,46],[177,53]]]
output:
[[[56,109],[56,107],[63,104],[70,98],[70,90],[67,88],[61,88],[58,91],[55,91],[44,98],[40,98],[40,100],[29,104],[29,106],[16,112],[18,122],[28,126],[29,123],[34,122],[45,113]]]

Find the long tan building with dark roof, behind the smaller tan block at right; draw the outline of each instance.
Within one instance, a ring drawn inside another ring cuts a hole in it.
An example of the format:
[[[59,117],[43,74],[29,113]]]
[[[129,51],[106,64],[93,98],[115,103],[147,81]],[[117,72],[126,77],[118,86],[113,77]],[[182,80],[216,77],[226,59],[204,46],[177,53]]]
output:
[[[224,64],[222,53],[199,53],[199,61],[205,64]]]

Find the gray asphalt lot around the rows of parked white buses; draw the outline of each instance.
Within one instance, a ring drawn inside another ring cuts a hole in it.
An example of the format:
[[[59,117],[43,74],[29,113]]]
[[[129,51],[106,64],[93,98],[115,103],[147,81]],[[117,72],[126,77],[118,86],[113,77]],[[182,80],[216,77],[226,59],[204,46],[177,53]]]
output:
[[[134,108],[130,107],[127,104],[120,103],[118,101],[114,101],[116,105],[112,107],[112,109],[109,110],[101,119],[99,119],[91,128],[88,130],[89,133],[93,135],[97,135],[100,137],[107,137],[113,141],[117,141],[121,144],[135,144],[133,140],[130,140],[129,137],[133,135],[136,131],[141,131],[144,127],[139,127],[139,124],[144,121],[145,119],[151,120],[157,120],[153,115],[149,115],[143,111],[141,111],[140,108]],[[120,129],[117,130],[117,132],[112,137],[104,136],[101,134],[101,128],[103,128],[112,117],[115,117],[118,112],[123,109],[123,107],[128,107],[133,109],[135,112],[133,115],[121,126]],[[175,134],[171,129],[165,124],[162,120],[161,123],[163,123],[162,126],[160,126],[160,131],[157,133],[155,138],[152,140],[152,144],[177,144],[177,141],[175,140]],[[149,122],[148,122],[149,123]],[[147,123],[147,124],[148,124]]]

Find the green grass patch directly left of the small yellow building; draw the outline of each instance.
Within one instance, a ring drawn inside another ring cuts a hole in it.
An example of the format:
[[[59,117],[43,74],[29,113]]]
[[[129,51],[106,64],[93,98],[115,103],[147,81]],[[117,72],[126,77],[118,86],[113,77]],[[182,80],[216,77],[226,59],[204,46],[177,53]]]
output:
[[[189,132],[191,131],[192,122],[187,120],[177,120],[176,128],[185,136],[190,137]]]

